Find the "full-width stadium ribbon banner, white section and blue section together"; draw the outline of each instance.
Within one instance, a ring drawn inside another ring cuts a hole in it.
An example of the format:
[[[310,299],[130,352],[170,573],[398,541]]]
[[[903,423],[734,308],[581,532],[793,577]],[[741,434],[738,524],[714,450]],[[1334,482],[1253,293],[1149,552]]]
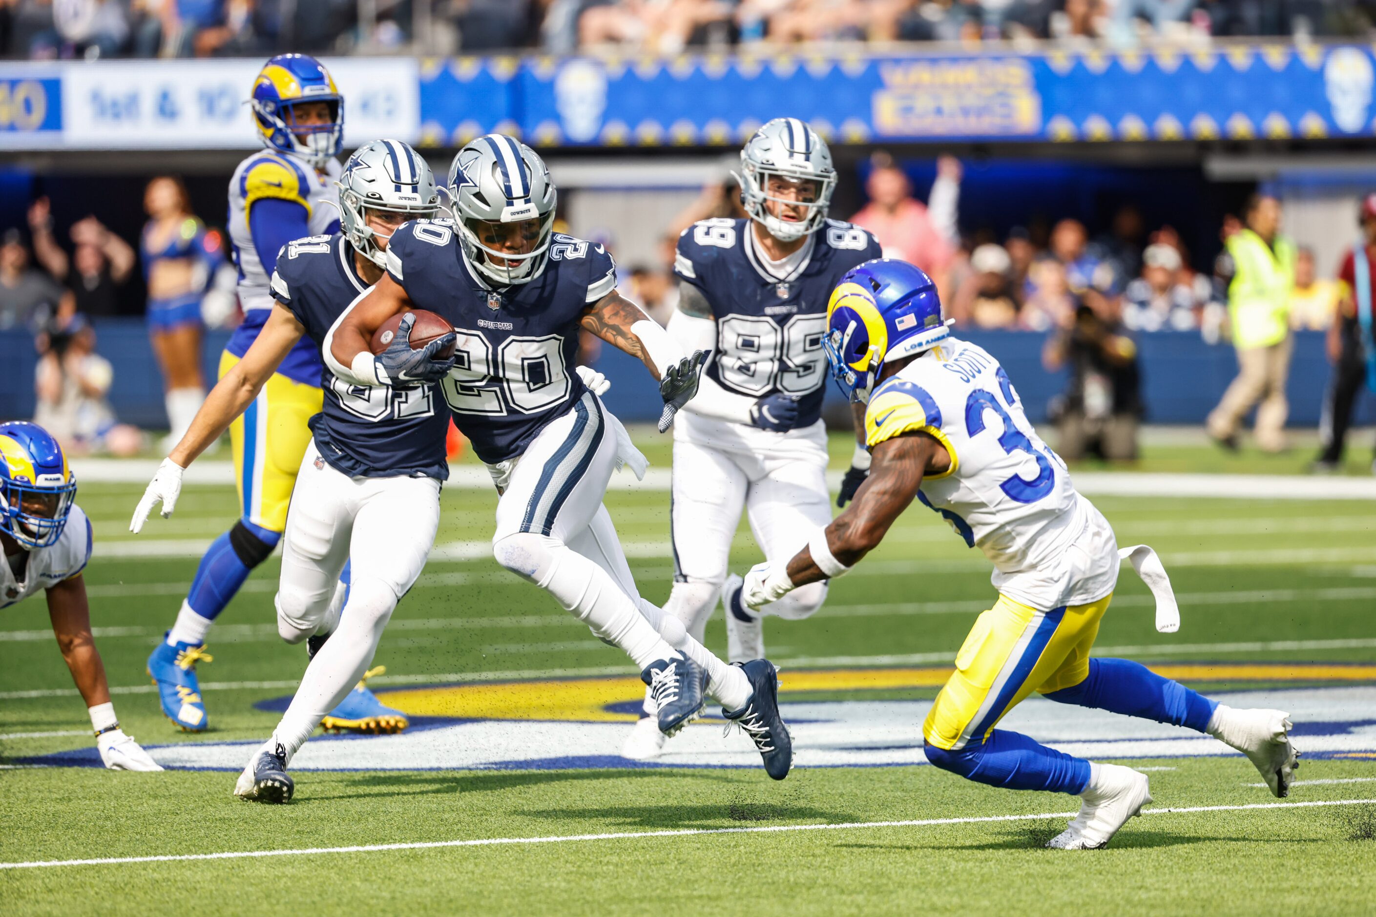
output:
[[[735,146],[787,113],[842,143],[1372,136],[1368,45],[1185,52],[332,58],[345,143]],[[261,61],[0,66],[3,149],[238,149]]]

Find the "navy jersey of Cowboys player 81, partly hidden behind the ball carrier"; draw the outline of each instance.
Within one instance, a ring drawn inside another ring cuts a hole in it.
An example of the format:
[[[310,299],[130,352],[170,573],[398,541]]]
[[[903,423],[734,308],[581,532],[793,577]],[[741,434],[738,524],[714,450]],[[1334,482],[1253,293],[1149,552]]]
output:
[[[289,308],[316,347],[350,303],[367,291],[341,234],[288,242],[277,257],[272,297]],[[427,475],[444,481],[449,416],[433,386],[351,386],[325,369],[325,406],[311,417],[321,456],[351,478]]]

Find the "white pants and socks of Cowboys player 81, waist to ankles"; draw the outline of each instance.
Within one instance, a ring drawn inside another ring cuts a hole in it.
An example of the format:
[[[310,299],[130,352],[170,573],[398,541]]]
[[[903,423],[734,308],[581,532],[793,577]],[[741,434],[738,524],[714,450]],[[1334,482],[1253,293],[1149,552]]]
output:
[[[435,544],[439,490],[435,478],[350,478],[321,458],[314,441],[305,450],[282,537],[277,626],[288,643],[316,633],[330,639],[272,734],[288,760],[372,664],[392,610]],[[332,599],[350,558],[348,602],[340,611]]]

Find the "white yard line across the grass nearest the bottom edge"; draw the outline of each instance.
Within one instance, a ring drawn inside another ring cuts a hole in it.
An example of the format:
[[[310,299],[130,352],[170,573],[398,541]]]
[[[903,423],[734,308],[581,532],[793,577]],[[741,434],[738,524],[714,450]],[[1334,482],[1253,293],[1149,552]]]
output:
[[[1183,815],[1193,812],[1240,812],[1269,808],[1313,808],[1321,805],[1362,805],[1376,800],[1337,799],[1306,803],[1251,803],[1247,805],[1193,805],[1183,808],[1148,808],[1142,815]],[[1031,822],[1049,818],[1073,818],[1075,812],[1038,812],[1036,815],[977,815],[967,818],[914,818],[894,822],[837,822],[828,825],[754,825],[750,828],[677,828],[659,832],[610,832],[605,834],[563,834],[555,837],[477,837],[472,840],[414,841],[406,844],[359,844],[354,847],[303,847],[296,850],[248,850],[217,854],[165,854],[155,856],[102,856],[98,859],[47,859],[0,863],[0,869],[51,869],[55,866],[118,866],[127,863],[172,863],[205,859],[256,859],[266,856],[318,856],[323,854],[380,854],[396,850],[440,850],[446,847],[501,847],[528,844],[571,844],[605,840],[645,840],[654,837],[699,837],[705,834],[784,834],[794,832],[874,830],[883,828],[929,828],[934,825],[980,825],[989,822]]]

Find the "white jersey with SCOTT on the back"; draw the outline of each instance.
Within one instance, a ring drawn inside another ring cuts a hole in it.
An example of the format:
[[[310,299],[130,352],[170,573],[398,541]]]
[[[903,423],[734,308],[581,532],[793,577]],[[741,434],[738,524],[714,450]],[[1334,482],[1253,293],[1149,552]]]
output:
[[[951,454],[918,498],[993,563],[993,585],[1040,610],[1102,599],[1117,581],[1113,529],[1076,493],[1065,463],[1042,442],[1003,366],[948,337],[879,384],[866,443],[921,430]]]

